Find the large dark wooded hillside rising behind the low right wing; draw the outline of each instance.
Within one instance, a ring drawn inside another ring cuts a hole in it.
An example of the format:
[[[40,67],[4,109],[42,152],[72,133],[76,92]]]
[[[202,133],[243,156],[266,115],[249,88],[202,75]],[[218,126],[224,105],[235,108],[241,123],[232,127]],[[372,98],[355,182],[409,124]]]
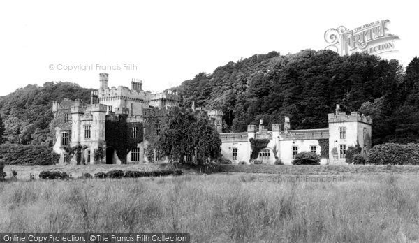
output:
[[[291,118],[292,128],[326,128],[335,104],[342,112],[373,117],[373,144],[416,142],[419,138],[419,59],[404,72],[396,60],[368,54],[341,57],[332,51],[303,50],[281,56],[256,54],[200,73],[177,88],[184,105],[224,112],[224,131],[246,131],[263,119],[267,127]]]

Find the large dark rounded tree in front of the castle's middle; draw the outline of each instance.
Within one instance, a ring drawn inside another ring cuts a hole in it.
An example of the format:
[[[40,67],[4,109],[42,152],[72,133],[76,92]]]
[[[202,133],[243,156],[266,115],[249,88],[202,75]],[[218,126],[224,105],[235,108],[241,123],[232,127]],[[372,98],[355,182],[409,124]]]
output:
[[[159,139],[154,149],[170,161],[185,163],[186,156],[194,156],[194,162],[206,164],[221,156],[219,133],[205,116],[180,112],[163,121]]]

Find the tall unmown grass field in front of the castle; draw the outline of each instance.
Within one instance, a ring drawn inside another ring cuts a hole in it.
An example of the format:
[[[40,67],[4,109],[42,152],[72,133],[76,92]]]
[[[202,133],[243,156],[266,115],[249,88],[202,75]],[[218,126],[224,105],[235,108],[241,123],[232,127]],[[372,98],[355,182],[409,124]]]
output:
[[[9,180],[0,183],[0,232],[174,232],[191,233],[193,242],[409,242],[419,240],[418,202],[415,174]]]

